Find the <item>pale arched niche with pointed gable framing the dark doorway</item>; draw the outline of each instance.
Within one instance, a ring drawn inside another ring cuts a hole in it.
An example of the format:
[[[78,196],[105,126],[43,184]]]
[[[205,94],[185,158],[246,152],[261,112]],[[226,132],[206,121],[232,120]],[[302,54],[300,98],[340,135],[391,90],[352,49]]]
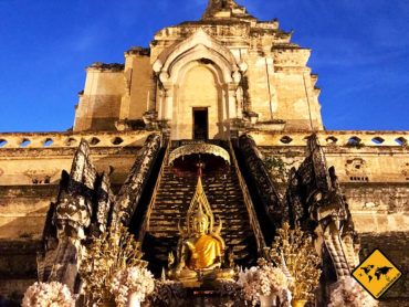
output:
[[[202,30],[159,55],[154,63],[161,88],[157,109],[159,119],[169,121],[172,139],[193,138],[195,107],[208,109],[209,138],[229,137],[230,120],[241,114],[235,93],[244,66]]]

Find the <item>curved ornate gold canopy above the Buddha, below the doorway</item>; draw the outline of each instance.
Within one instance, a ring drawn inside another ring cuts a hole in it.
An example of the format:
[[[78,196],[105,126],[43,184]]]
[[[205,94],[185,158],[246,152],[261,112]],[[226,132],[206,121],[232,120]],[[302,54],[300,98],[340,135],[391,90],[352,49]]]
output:
[[[213,145],[213,144],[189,144],[181,147],[176,148],[174,151],[169,155],[169,165],[172,165],[172,162],[183,156],[189,155],[200,155],[200,154],[209,154],[217,157],[222,158],[224,161],[227,161],[230,165],[230,155],[229,152],[221,148],[220,146]]]

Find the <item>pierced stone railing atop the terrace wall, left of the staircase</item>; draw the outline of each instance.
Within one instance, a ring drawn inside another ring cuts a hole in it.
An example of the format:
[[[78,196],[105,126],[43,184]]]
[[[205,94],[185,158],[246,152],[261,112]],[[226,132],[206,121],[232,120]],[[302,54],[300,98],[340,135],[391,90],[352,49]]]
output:
[[[127,133],[7,133],[0,134],[1,149],[19,148],[76,148],[82,138],[91,147],[140,147],[153,131]]]

